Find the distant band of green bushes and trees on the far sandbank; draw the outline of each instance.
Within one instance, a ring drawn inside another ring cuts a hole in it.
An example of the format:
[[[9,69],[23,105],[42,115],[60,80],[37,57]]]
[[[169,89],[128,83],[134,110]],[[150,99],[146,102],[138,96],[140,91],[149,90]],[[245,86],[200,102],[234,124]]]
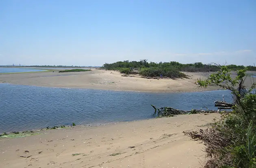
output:
[[[247,68],[247,70],[256,70],[254,66],[237,66],[228,65],[230,70],[241,70]],[[193,64],[181,64],[179,62],[147,62],[147,60],[137,61],[119,61],[112,64],[104,64],[101,69],[105,70],[117,70],[124,74],[130,74],[137,72],[142,77],[168,77],[171,79],[187,78],[184,72],[217,72],[220,70],[220,66],[217,64],[202,64],[202,62],[196,62]]]

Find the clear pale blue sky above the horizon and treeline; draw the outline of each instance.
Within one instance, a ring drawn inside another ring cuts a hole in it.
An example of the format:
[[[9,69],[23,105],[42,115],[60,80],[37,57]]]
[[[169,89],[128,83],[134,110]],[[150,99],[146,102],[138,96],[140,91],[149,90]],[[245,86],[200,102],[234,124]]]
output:
[[[0,0],[0,65],[254,65],[255,0]]]

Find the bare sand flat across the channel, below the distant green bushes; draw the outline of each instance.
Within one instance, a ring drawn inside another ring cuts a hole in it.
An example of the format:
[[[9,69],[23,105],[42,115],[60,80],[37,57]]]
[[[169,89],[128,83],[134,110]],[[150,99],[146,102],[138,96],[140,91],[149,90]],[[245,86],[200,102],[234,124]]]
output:
[[[202,91],[216,90],[211,87],[198,89],[193,82],[209,73],[187,73],[190,79],[145,79],[141,77],[122,77],[119,72],[106,70],[91,70],[87,72],[35,72],[0,74],[0,83],[19,85],[34,85],[44,87],[68,87],[86,89],[105,89],[123,91]]]

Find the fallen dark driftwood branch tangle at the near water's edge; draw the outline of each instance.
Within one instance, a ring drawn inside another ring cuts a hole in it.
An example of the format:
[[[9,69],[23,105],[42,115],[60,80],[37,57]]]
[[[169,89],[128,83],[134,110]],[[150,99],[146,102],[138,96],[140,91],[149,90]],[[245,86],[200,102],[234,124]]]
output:
[[[158,117],[171,117],[174,115],[183,115],[183,114],[198,114],[198,113],[219,113],[219,110],[209,110],[207,107],[202,107],[200,110],[192,109],[190,111],[183,111],[179,109],[175,109],[172,107],[161,107],[156,108],[156,106],[151,106],[155,109],[154,115],[157,114]],[[206,108],[206,110],[202,110]]]

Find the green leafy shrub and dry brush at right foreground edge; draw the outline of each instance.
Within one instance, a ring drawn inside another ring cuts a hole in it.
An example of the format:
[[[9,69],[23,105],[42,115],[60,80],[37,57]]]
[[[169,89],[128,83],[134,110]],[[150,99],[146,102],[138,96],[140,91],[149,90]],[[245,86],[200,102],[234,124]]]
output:
[[[222,66],[208,79],[197,81],[201,87],[217,85],[228,89],[234,96],[232,113],[225,114],[220,121],[200,132],[184,132],[206,145],[205,168],[256,168],[256,94],[255,84],[245,88],[245,70],[238,70],[237,77],[230,77],[230,70]]]

